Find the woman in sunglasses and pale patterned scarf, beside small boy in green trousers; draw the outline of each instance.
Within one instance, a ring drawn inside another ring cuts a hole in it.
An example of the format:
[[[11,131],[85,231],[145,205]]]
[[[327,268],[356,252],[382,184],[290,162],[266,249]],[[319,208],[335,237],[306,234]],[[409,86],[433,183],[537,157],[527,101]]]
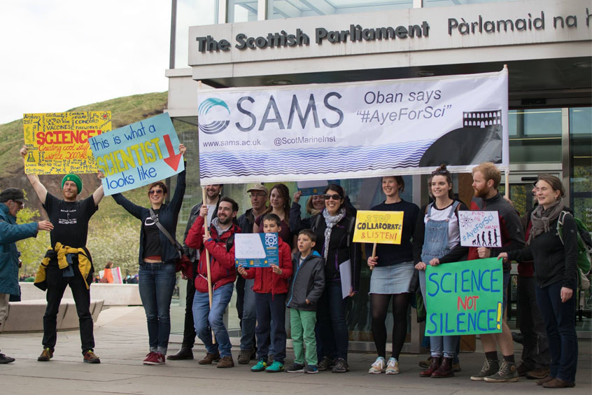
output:
[[[318,300],[318,370],[333,366],[333,373],[348,370],[347,352],[349,333],[346,323],[347,297],[341,296],[339,266],[349,265],[354,296],[360,284],[360,245],[353,242],[355,212],[346,209],[344,189],[330,184],[325,189],[325,209],[311,219],[311,230],[316,235],[314,249],[325,258],[325,290]]]

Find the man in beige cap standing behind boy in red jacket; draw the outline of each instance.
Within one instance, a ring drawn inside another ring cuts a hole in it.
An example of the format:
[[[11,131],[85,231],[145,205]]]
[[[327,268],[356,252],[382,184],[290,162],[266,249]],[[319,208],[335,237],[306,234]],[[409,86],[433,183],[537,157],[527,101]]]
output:
[[[269,192],[265,186],[258,183],[247,190],[251,198],[251,209],[239,216],[241,233],[253,233],[255,218],[267,209],[267,195]],[[238,362],[242,365],[255,358],[255,292],[253,292],[254,279],[237,277],[237,312],[241,325],[241,353]],[[270,351],[273,354],[273,351]]]

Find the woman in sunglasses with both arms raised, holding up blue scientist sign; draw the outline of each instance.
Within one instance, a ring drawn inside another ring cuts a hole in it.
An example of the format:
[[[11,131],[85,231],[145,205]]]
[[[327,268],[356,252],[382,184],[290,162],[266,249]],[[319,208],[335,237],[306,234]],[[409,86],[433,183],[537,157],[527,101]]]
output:
[[[187,149],[180,144],[179,151],[185,155]],[[185,170],[177,175],[175,193],[169,205],[164,203],[167,191],[167,186],[162,181],[152,183],[148,187],[148,200],[157,221],[169,235],[175,237],[177,218],[185,194]],[[142,223],[138,256],[139,291],[146,312],[150,345],[150,352],[143,363],[163,365],[171,333],[171,298],[176,282],[175,261],[178,252],[157,227],[150,215],[150,209],[134,205],[121,193],[115,193],[113,199]]]

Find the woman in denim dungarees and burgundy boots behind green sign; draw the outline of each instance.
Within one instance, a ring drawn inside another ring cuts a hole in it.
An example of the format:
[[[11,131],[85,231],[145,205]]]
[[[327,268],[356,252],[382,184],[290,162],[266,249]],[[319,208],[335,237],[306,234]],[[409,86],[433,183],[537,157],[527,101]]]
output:
[[[435,200],[422,207],[413,237],[415,268],[425,303],[425,268],[444,263],[464,261],[469,249],[460,246],[458,211],[467,206],[452,195],[452,176],[446,165],[440,165],[428,183],[430,196]],[[431,363],[419,375],[442,378],[454,375],[453,359],[459,336],[431,336]]]

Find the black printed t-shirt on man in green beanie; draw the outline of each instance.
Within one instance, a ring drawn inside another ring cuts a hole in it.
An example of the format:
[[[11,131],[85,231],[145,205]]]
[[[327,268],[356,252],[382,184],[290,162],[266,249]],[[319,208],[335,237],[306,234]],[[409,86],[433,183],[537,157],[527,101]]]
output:
[[[85,200],[66,202],[48,193],[43,208],[53,224],[53,230],[50,233],[52,246],[57,242],[73,248],[86,246],[88,221],[99,209],[94,205],[92,195]]]

